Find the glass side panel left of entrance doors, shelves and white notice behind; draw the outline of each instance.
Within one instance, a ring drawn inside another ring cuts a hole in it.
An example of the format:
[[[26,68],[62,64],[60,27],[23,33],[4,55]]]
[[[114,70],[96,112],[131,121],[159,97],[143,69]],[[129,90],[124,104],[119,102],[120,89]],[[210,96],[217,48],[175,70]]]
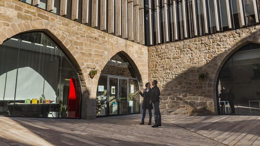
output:
[[[96,97],[97,116],[106,116],[107,114],[107,76],[100,76],[98,80]]]

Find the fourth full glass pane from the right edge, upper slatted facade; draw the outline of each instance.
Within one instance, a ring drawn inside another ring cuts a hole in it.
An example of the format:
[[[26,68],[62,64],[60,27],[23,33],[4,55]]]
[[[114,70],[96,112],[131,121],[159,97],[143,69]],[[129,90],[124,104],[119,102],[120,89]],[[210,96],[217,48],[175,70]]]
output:
[[[215,6],[214,0],[208,1],[208,20],[209,20],[209,31],[210,33],[217,32],[216,16],[215,16]]]

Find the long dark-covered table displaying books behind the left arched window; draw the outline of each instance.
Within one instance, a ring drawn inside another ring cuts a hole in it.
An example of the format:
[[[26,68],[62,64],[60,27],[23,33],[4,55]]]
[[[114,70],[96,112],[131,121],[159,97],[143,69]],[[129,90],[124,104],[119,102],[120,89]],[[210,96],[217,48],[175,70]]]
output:
[[[59,104],[7,104],[8,112],[14,116],[48,117],[50,112],[58,112]]]

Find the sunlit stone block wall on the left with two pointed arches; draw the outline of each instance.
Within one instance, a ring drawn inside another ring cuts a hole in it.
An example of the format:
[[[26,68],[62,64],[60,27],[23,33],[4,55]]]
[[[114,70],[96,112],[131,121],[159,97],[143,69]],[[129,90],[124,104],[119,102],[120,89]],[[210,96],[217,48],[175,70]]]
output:
[[[96,90],[105,64],[121,52],[137,72],[140,86],[148,79],[147,47],[88,27],[18,0],[0,0],[0,44],[23,32],[42,31],[69,56],[82,85],[82,118],[96,117]],[[91,69],[98,75],[89,78]]]

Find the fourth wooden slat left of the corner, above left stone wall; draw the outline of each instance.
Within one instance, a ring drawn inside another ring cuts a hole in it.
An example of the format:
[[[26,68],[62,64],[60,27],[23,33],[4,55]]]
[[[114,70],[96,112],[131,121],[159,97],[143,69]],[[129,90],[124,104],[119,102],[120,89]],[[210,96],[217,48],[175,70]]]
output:
[[[127,0],[122,0],[122,38],[127,38]]]

